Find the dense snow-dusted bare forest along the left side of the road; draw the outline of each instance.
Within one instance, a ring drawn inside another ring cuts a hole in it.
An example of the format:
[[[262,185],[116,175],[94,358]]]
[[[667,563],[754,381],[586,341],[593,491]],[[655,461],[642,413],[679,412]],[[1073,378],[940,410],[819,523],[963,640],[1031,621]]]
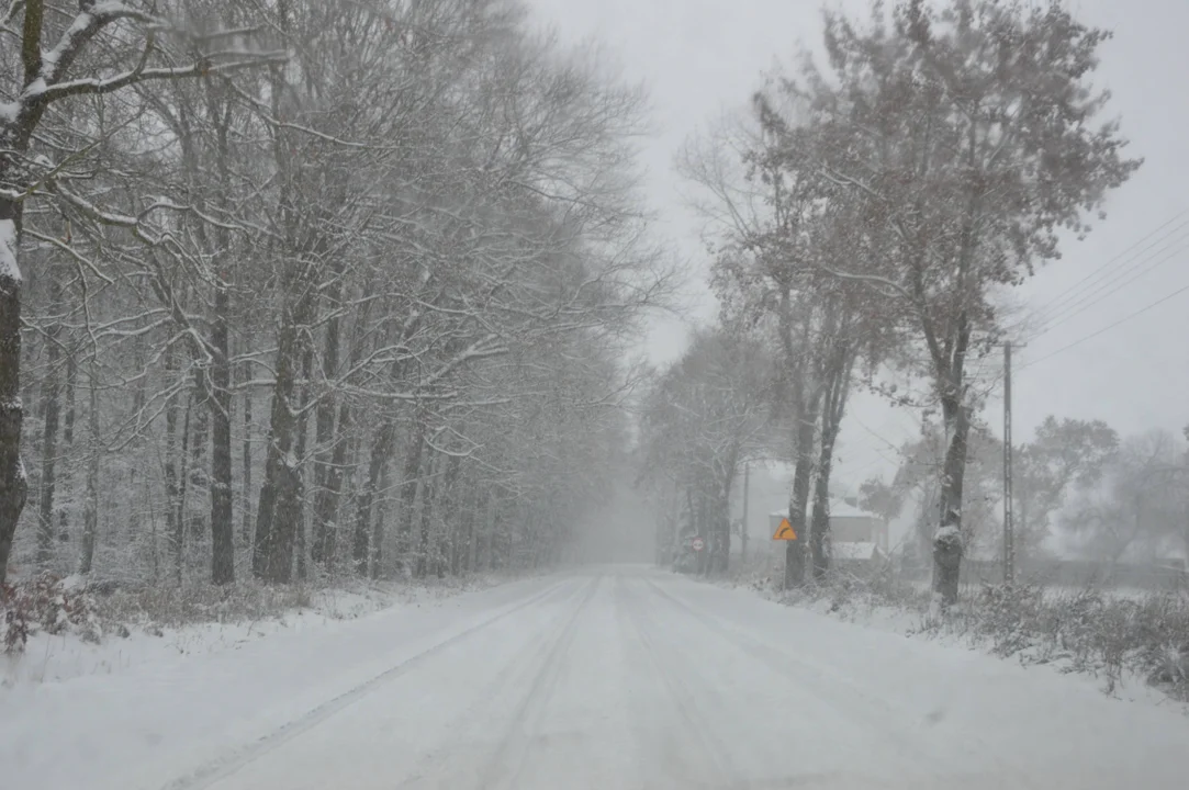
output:
[[[25,0],[0,33],[0,579],[561,551],[669,279],[638,89],[511,0]]]

